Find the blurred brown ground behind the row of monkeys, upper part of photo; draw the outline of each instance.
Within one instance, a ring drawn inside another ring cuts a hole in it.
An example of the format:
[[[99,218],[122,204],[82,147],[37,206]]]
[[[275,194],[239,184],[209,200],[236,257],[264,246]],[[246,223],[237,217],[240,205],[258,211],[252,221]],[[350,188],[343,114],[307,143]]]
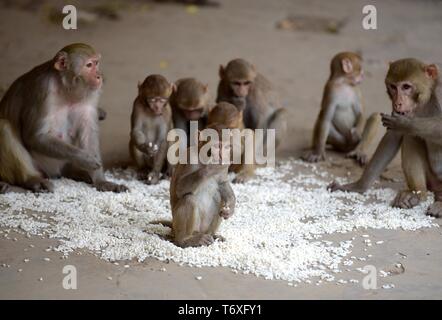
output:
[[[78,9],[77,30],[62,27],[67,4]],[[368,4],[376,6],[377,30],[362,28]],[[310,144],[334,54],[362,53],[366,113],[388,112],[388,62],[415,57],[442,65],[441,35],[437,0],[0,0],[0,95],[66,44],[94,46],[105,74],[103,158],[107,166],[121,165],[129,159],[129,117],[139,80],[152,73],[170,81],[196,77],[209,84],[214,100],[219,65],[241,57],[278,90],[290,115],[290,134],[278,154],[296,157]]]

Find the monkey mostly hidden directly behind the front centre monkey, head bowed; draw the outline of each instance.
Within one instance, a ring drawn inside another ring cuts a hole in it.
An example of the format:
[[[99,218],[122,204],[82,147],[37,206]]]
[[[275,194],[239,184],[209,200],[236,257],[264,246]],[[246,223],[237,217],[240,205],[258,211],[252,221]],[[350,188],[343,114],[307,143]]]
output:
[[[222,124],[228,129],[239,129],[241,132],[244,130],[243,123],[243,111],[238,110],[236,106],[228,102],[218,103],[210,112],[208,117],[209,126]],[[232,163],[229,167],[229,171],[236,173],[236,177],[233,180],[234,183],[244,183],[255,175],[255,165],[253,163],[245,163],[245,138],[241,138],[241,163]]]

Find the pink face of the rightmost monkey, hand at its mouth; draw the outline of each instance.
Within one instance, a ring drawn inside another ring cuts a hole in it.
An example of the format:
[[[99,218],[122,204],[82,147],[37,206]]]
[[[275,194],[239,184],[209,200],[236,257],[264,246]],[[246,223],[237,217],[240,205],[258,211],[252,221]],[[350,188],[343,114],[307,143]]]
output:
[[[415,101],[416,88],[409,81],[387,84],[393,110],[402,115],[411,115],[417,107]]]

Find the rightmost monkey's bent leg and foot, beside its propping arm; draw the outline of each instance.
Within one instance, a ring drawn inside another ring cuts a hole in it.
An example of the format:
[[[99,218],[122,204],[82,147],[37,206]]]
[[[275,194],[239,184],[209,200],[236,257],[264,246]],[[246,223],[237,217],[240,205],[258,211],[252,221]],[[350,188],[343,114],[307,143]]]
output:
[[[412,208],[427,197],[428,159],[426,147],[422,140],[404,136],[402,142],[402,170],[408,189],[397,194],[393,206]]]

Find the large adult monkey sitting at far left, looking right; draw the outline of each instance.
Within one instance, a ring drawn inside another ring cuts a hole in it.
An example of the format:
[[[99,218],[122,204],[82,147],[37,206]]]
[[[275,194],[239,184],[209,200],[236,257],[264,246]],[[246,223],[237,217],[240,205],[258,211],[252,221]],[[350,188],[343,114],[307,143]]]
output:
[[[0,101],[0,191],[11,185],[52,191],[47,178],[66,176],[100,191],[127,188],[103,174],[97,103],[100,54],[71,44],[18,78]]]

